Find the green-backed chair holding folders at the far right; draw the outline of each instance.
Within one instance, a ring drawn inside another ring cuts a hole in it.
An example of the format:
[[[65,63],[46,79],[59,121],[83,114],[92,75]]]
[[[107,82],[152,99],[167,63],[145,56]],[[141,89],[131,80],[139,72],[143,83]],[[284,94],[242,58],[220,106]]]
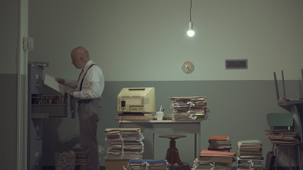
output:
[[[294,118],[292,117],[291,113],[268,113],[267,115],[267,120],[268,120],[268,125],[270,126],[271,130],[285,130],[285,132],[293,132],[293,123],[294,123]],[[291,154],[290,154],[290,147],[291,146],[296,146],[297,147],[297,154],[298,154],[298,159],[299,159],[299,169],[301,169],[301,158],[300,158],[300,142],[297,141],[287,141],[283,142],[283,132],[281,132],[281,139],[280,141],[278,139],[271,140],[272,141],[272,151],[275,154],[275,170],[277,170],[277,147],[279,145],[282,146],[288,146],[288,156],[289,156],[289,161],[290,161],[290,170],[292,169],[291,167]],[[296,165],[297,168],[297,165]]]

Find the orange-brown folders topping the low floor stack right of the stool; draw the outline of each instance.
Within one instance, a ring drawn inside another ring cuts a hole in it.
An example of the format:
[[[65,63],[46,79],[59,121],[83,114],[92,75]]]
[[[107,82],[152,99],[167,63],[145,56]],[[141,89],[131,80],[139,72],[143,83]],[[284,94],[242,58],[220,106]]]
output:
[[[233,152],[221,152],[212,150],[202,150],[198,161],[233,163],[236,160],[236,154]]]

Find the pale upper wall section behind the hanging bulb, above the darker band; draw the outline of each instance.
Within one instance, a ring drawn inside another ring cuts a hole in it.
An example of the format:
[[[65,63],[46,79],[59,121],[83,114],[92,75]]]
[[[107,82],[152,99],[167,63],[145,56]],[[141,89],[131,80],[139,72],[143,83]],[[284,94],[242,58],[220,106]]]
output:
[[[188,38],[187,0],[29,1],[31,61],[77,79],[70,50],[87,47],[106,81],[268,80],[284,70],[301,79],[303,1],[192,0],[196,35]],[[226,59],[248,69],[226,70]],[[184,74],[182,62],[194,62]]]

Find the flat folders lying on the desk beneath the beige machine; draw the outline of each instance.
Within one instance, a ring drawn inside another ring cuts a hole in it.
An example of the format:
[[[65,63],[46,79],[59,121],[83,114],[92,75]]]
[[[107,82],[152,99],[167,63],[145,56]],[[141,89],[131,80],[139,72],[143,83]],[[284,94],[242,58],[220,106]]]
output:
[[[147,121],[154,120],[155,116],[152,113],[119,113],[115,120],[132,120],[132,121]]]

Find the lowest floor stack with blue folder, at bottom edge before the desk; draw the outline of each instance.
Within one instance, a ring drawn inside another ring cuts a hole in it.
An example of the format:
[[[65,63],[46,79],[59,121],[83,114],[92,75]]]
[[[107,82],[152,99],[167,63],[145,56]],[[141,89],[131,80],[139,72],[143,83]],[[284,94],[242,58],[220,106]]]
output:
[[[166,160],[129,160],[128,170],[137,170],[137,169],[157,169],[157,170],[167,170],[167,161]]]

